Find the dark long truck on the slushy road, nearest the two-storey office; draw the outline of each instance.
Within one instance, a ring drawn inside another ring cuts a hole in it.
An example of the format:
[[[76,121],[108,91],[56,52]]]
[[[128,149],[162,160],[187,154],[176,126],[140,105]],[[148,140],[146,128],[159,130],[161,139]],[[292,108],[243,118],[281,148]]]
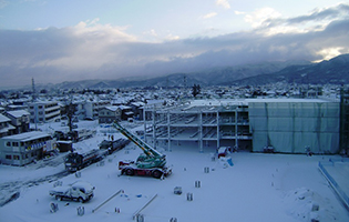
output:
[[[106,155],[107,150],[96,149],[83,153],[71,152],[64,159],[65,170],[69,172],[75,172],[104,159]]]

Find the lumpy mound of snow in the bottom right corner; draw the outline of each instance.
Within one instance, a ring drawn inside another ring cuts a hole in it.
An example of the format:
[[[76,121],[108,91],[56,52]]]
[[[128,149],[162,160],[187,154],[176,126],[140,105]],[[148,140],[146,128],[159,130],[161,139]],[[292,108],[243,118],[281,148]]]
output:
[[[337,221],[337,212],[330,201],[307,188],[295,189],[286,193],[285,204],[288,213],[299,221]]]

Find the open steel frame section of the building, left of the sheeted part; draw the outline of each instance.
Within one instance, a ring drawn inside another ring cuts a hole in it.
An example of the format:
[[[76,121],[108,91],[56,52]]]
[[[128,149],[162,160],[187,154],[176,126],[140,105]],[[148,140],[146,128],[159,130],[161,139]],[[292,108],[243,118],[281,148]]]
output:
[[[145,141],[172,150],[174,144],[195,142],[199,152],[220,145],[252,147],[248,107],[242,102],[144,109]]]

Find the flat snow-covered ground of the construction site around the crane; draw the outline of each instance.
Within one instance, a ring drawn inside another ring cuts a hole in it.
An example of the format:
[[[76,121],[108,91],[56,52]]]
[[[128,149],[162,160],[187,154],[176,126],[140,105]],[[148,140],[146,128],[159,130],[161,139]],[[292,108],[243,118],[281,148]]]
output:
[[[79,124],[95,128],[97,134],[74,144],[76,149],[96,148],[110,133],[115,139],[122,137],[95,122]],[[57,125],[41,127],[55,129]],[[117,162],[135,160],[142,152],[133,143],[109,155],[104,164],[100,162],[81,170],[81,178],[69,174],[37,184],[25,183],[64,171],[63,161],[59,160],[62,155],[51,165],[43,161],[23,168],[0,165],[0,185],[17,184],[20,190],[16,201],[0,208],[0,221],[133,221],[134,213],[155,195],[141,211],[144,221],[349,221],[348,211],[318,170],[319,161],[333,157],[237,152],[230,154],[234,162],[230,167],[213,160],[213,150],[199,153],[197,145],[160,151],[167,155],[167,163],[173,168],[173,174],[164,180],[120,175]],[[205,172],[205,168],[209,171]],[[49,195],[55,180],[63,184],[88,181],[96,188],[95,196],[86,203],[59,202]],[[195,183],[199,183],[199,188]],[[182,186],[182,195],[173,193],[175,186]],[[2,189],[6,192],[8,188]],[[123,192],[96,209],[120,190]],[[193,194],[193,201],[187,200],[187,193]],[[52,202],[59,206],[55,213],[50,212]],[[84,206],[84,215],[78,215],[79,206]]]

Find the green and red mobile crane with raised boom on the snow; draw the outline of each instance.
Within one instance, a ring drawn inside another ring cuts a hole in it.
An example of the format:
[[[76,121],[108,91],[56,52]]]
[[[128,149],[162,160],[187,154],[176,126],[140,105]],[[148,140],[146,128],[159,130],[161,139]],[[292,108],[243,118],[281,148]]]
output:
[[[143,153],[141,153],[136,161],[119,162],[119,170],[121,170],[121,174],[150,175],[157,179],[172,174],[172,169],[166,167],[165,154],[162,154],[151,145],[146,144],[143,140],[138,139],[124,127],[119,124],[119,122],[114,121],[112,127],[143,150]]]

